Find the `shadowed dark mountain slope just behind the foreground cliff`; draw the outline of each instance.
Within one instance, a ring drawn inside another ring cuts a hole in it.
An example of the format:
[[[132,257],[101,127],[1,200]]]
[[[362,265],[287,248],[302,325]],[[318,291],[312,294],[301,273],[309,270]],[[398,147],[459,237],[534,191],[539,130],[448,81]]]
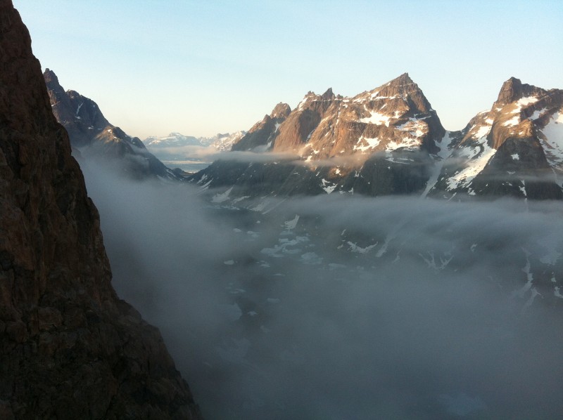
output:
[[[168,169],[148,152],[139,138],[129,136],[110,124],[93,100],[76,91],[65,91],[55,72],[46,69],[43,77],[53,114],[65,127],[70,144],[80,150],[81,156],[101,157],[104,162],[109,159],[120,171],[136,179],[182,179],[177,171]]]

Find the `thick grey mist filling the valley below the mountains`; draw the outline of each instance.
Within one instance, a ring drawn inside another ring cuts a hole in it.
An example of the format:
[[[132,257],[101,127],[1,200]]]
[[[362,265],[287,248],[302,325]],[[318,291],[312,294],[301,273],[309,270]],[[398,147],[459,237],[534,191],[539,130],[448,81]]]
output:
[[[563,414],[561,203],[333,194],[250,211],[81,166],[113,285],[205,418]]]

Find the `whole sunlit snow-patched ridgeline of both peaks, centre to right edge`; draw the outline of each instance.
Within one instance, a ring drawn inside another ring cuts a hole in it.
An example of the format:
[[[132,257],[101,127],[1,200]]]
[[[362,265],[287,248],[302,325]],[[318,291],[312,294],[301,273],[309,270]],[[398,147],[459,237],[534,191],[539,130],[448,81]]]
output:
[[[562,199],[563,91],[511,78],[491,110],[446,131],[405,73],[353,98],[329,89],[295,110],[279,103],[232,151],[265,153],[227,156],[189,180],[237,202],[331,192]]]

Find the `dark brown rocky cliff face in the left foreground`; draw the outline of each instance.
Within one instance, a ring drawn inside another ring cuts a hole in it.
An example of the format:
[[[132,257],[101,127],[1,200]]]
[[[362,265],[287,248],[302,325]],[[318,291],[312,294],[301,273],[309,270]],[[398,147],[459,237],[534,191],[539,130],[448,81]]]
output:
[[[0,0],[0,417],[198,418],[111,287],[99,216],[20,15]]]

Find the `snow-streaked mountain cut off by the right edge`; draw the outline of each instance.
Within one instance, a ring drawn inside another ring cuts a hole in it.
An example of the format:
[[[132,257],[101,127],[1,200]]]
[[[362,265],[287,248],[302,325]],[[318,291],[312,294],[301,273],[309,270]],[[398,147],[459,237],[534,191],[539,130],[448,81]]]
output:
[[[505,81],[451,142],[431,195],[562,199],[563,91]]]

